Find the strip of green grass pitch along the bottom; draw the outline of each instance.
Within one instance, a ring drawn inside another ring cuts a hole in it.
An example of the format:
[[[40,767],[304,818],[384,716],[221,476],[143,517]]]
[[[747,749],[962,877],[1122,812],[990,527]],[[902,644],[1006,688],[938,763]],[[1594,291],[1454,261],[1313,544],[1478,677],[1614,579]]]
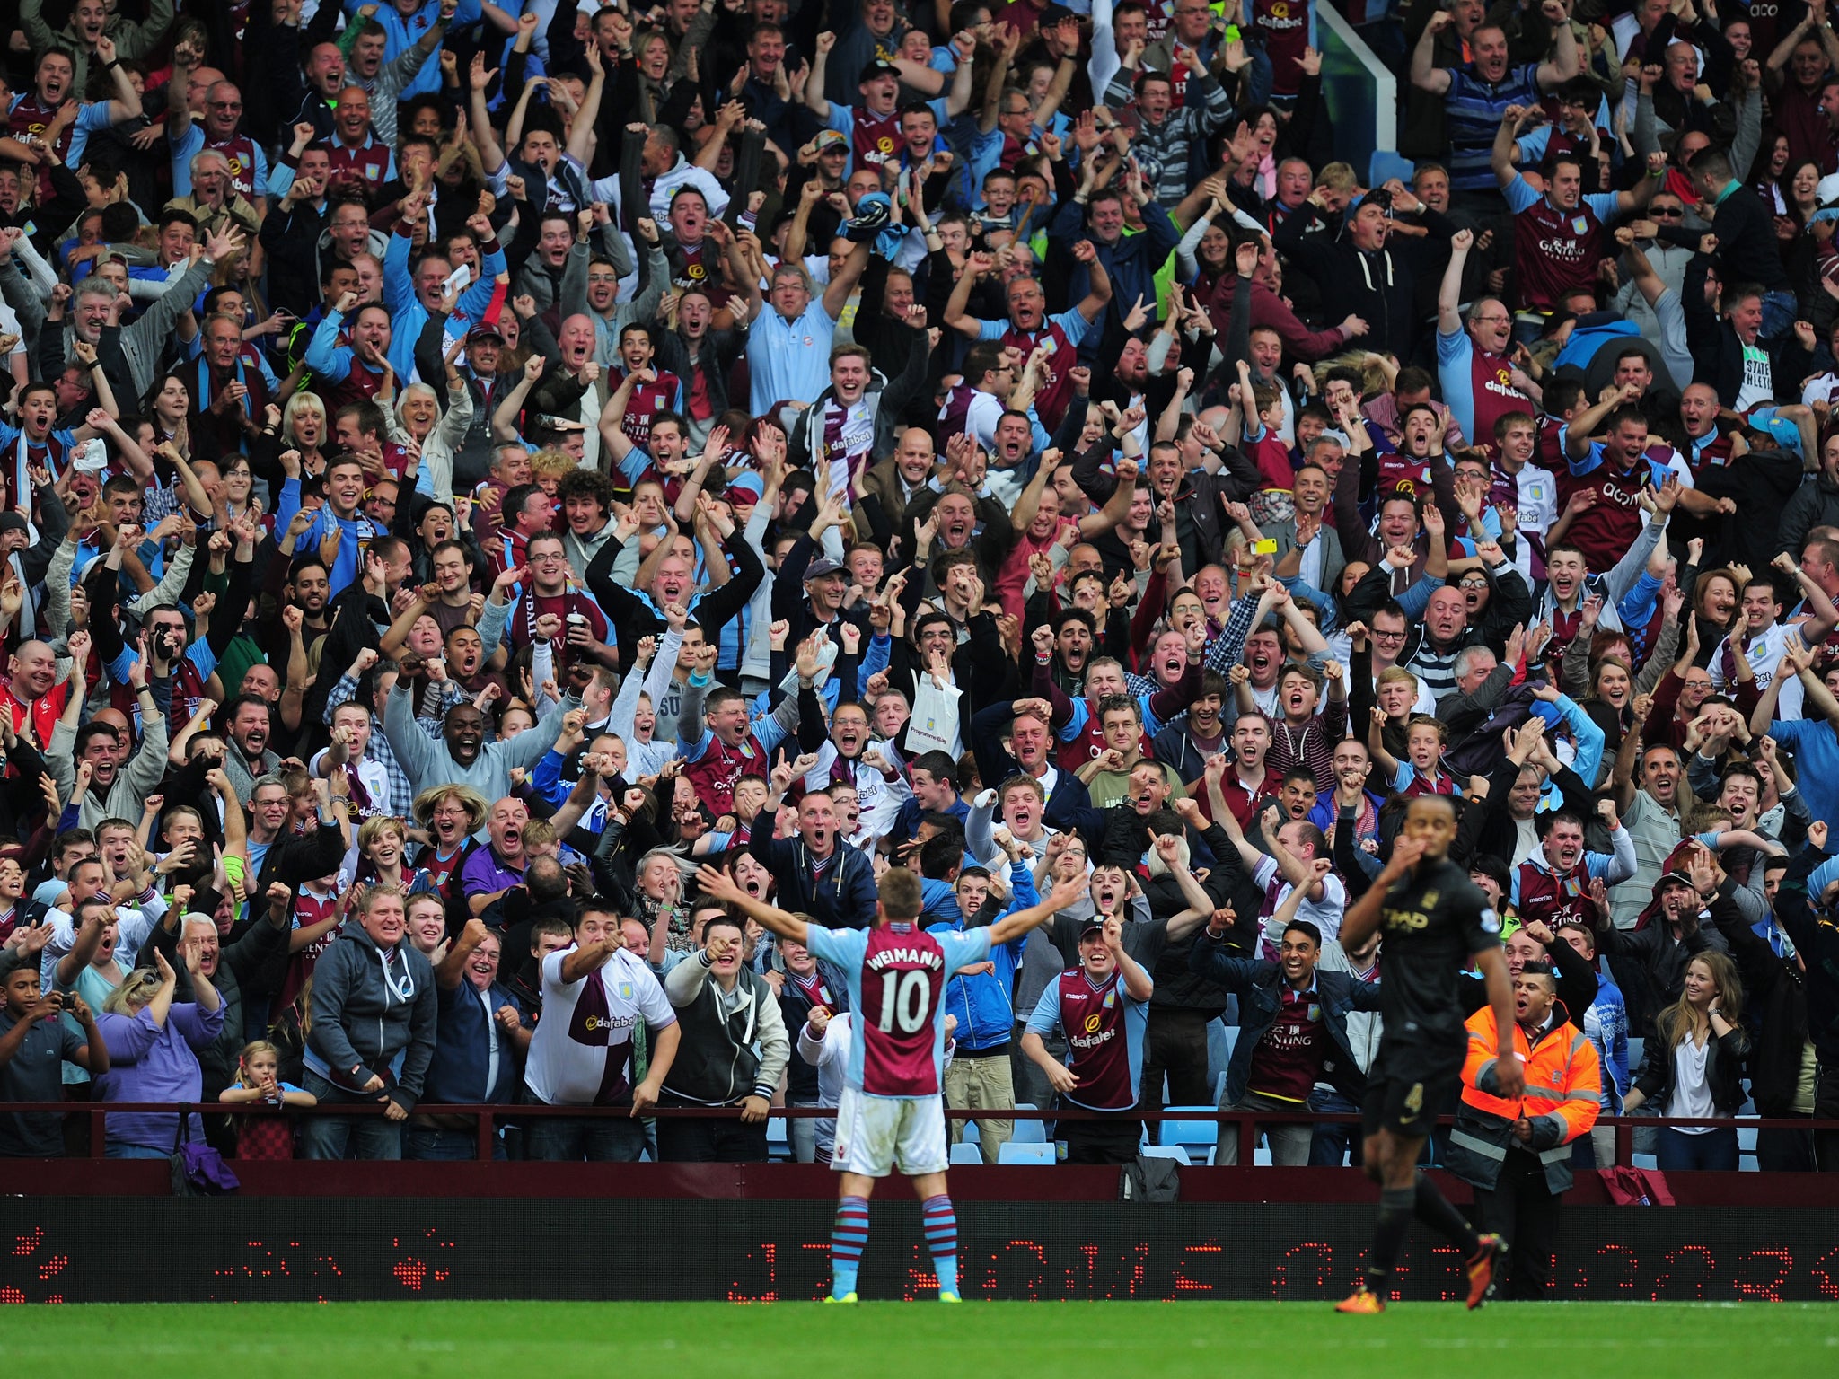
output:
[[[1839,1305],[1493,1304],[1466,1313],[1422,1302],[1385,1316],[1293,1302],[7,1307],[0,1364],[7,1373],[132,1379],[1433,1379],[1707,1368],[1830,1379],[1839,1373]]]

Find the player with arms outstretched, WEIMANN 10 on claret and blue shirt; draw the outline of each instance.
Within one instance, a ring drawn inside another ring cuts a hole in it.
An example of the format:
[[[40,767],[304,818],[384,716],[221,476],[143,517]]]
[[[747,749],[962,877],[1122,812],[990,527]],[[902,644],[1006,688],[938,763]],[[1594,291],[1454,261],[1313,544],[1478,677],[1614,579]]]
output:
[[[872,929],[824,929],[752,899],[734,877],[704,866],[702,895],[758,919],[780,938],[839,967],[850,982],[855,1043],[837,1105],[831,1166],[842,1173],[831,1228],[828,1302],[855,1302],[855,1272],[868,1245],[868,1195],[897,1164],[912,1179],[938,1271],[938,1300],[958,1302],[958,1217],[945,1193],[945,982],[1085,894],[1085,877],[1061,881],[1043,905],[1006,914],[988,929],[929,934],[920,927],[920,877],[881,877]]]

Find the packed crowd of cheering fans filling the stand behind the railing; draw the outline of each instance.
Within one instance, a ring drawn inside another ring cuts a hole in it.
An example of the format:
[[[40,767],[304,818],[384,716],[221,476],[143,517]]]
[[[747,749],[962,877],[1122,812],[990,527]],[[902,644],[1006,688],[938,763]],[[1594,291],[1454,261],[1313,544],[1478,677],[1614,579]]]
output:
[[[1030,921],[945,987],[980,1155],[1057,1103],[1122,1162],[1361,1105],[1342,923],[1445,796],[1528,1041],[1455,1171],[1839,1118],[1826,4],[1337,9],[1377,173],[1313,0],[20,0],[0,1100],[765,1158],[905,997],[748,905],[866,929],[892,870]]]

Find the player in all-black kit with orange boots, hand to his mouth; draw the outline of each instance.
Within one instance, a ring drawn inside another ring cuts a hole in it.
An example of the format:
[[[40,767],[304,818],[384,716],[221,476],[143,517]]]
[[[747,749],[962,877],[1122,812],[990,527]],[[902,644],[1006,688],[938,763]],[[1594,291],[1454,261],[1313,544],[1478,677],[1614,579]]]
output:
[[[1392,857],[1372,888],[1348,908],[1341,943],[1359,947],[1374,929],[1383,932],[1385,1033],[1366,1077],[1361,1107],[1366,1177],[1379,1184],[1379,1221],[1374,1225],[1366,1282],[1335,1311],[1385,1311],[1392,1267],[1405,1248],[1411,1219],[1447,1236],[1462,1250],[1469,1280],[1469,1307],[1480,1307],[1493,1282],[1495,1256],[1506,1250],[1499,1236],[1477,1234],[1436,1184],[1418,1173],[1418,1153],[1438,1112],[1455,1103],[1468,1052],[1456,978],[1473,963],[1488,982],[1499,1048],[1512,1048],[1513,989],[1501,952],[1501,919],[1468,872],[1449,860],[1456,811],[1449,796],[1425,794],[1411,802]],[[1525,1085],[1512,1059],[1495,1068],[1501,1096],[1515,1098]]]

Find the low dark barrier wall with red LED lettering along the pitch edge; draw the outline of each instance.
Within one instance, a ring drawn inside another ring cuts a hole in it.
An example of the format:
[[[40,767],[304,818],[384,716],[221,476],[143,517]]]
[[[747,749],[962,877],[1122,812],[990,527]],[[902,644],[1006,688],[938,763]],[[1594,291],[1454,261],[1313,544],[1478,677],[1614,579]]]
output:
[[[1230,1112],[1217,1120],[1241,1129]],[[1633,1127],[1618,1122],[1624,1162]],[[822,1166],[232,1160],[241,1188],[217,1197],[175,1197],[158,1160],[17,1169],[29,1191],[0,1208],[0,1302],[789,1302],[822,1298],[829,1282],[835,1175]],[[1376,1201],[1359,1169],[1179,1171],[1179,1202],[1142,1204],[1118,1199],[1111,1168],[954,1166],[964,1296],[1326,1302],[1357,1280]],[[1604,1173],[1578,1175],[1556,1298],[1839,1300],[1839,1175],[1648,1182],[1673,1204],[1616,1204]],[[160,1241],[153,1267],[123,1248],[123,1221]],[[618,1259],[649,1263],[609,1267]],[[1460,1296],[1455,1254],[1423,1232],[1398,1278],[1405,1298]],[[892,1179],[862,1296],[927,1298],[931,1282],[918,1206]]]

